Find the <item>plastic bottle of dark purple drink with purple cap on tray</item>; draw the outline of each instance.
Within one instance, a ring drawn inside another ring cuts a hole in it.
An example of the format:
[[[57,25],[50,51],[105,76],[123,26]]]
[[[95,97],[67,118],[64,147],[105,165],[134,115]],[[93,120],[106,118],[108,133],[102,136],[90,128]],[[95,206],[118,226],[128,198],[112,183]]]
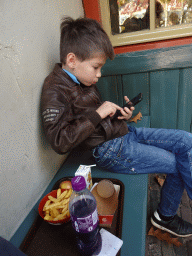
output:
[[[69,201],[69,212],[76,233],[78,249],[84,256],[98,255],[101,251],[102,240],[96,200],[86,188],[83,176],[75,176],[71,183],[73,193]]]

